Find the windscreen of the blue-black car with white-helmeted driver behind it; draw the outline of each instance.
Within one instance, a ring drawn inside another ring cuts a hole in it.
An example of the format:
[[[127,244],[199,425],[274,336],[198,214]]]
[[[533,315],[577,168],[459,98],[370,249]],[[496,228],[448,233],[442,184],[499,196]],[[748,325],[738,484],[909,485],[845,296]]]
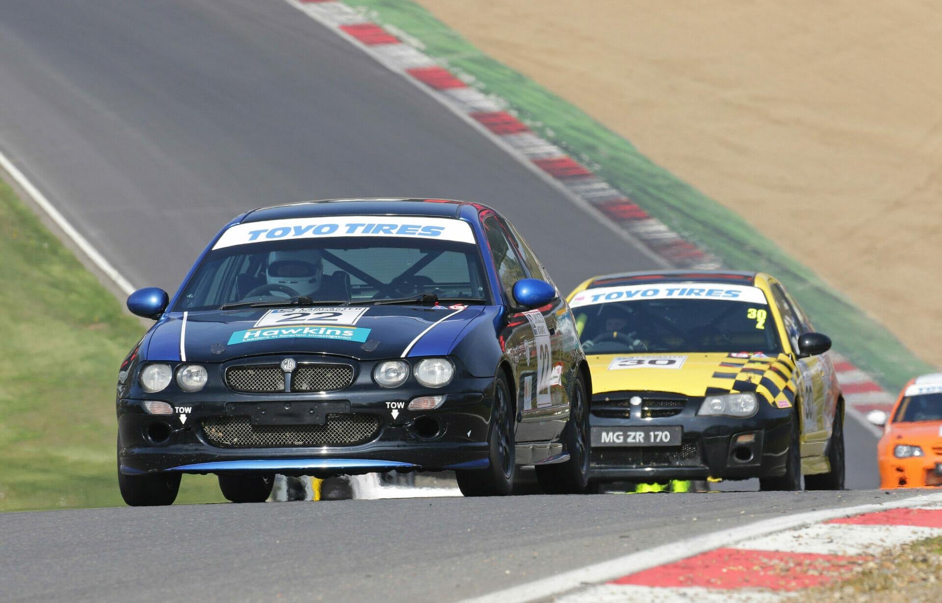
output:
[[[469,227],[467,233],[449,234],[426,226],[422,234],[418,227],[398,224],[401,218],[383,221],[392,223],[372,220],[387,227],[385,233],[371,232],[374,224],[364,220],[341,222],[333,231],[324,227],[324,220],[313,229],[310,224],[277,225],[280,221],[264,229],[240,224],[234,228],[242,227],[241,232],[225,233],[203,258],[173,310],[292,297],[358,302],[434,294],[443,300],[485,302],[479,250]],[[328,236],[312,236],[317,226]]]

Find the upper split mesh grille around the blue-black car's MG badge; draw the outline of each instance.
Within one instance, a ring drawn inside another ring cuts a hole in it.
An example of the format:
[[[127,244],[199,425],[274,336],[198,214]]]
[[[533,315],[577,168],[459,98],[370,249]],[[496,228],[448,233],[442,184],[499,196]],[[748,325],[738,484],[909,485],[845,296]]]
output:
[[[291,377],[292,392],[332,392],[353,383],[353,367],[341,364],[301,363]],[[284,392],[284,371],[278,365],[229,367],[226,384],[237,392]]]

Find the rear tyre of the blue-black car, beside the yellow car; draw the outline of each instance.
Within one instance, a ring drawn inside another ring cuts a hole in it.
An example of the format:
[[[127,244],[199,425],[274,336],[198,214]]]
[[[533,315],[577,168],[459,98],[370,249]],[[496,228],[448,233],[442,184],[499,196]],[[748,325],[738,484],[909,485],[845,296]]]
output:
[[[562,432],[569,460],[559,464],[538,464],[536,479],[546,494],[583,494],[589,485],[589,402],[580,375]]]

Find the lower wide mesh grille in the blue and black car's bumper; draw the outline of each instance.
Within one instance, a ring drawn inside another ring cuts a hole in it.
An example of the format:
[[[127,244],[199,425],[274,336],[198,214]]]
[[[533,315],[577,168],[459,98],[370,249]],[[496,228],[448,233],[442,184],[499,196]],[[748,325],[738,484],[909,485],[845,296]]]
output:
[[[291,448],[365,444],[380,431],[376,415],[328,415],[324,425],[252,425],[248,416],[203,419],[203,435],[219,448]]]

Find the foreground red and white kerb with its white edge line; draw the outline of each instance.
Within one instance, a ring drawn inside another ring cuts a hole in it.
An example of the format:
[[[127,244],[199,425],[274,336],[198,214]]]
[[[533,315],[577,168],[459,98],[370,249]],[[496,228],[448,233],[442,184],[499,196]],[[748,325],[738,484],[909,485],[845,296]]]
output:
[[[712,531],[464,603],[780,601],[851,578],[853,568],[888,547],[939,535],[942,495],[918,495]]]

